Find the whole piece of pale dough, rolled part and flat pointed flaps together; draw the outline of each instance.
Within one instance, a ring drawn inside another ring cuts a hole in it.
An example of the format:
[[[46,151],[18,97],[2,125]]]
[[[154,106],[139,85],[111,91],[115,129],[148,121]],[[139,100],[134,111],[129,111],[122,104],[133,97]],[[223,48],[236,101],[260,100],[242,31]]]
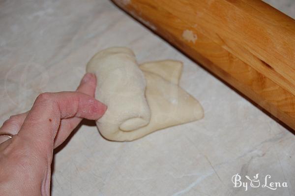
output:
[[[96,74],[95,98],[108,106],[96,121],[109,140],[131,141],[160,129],[203,118],[200,103],[178,86],[182,63],[137,65],[128,48],[108,48],[89,61]]]

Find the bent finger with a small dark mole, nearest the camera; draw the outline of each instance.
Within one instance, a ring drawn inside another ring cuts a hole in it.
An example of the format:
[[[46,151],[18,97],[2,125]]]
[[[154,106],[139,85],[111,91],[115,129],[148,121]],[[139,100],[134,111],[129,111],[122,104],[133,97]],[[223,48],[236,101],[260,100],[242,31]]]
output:
[[[61,119],[75,116],[96,120],[105,111],[103,103],[83,93],[43,93],[36,98],[18,137],[36,151],[52,153]]]

